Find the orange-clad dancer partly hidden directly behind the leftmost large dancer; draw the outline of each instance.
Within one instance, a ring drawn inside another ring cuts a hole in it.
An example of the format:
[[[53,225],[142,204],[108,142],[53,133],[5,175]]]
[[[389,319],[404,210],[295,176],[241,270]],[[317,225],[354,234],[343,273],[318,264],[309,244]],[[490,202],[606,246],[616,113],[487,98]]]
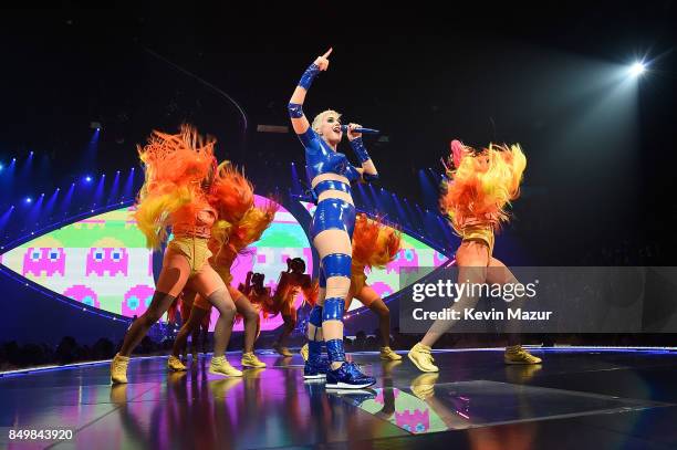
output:
[[[238,186],[238,195],[233,200],[242,199],[241,203],[237,201],[230,202],[230,217],[232,221],[228,233],[228,243],[220,245],[217,239],[210,241],[210,249],[213,257],[209,260],[211,266],[219,274],[228,289],[230,297],[233,299],[238,314],[244,321],[244,348],[242,352],[242,367],[263,368],[265,363],[261,362],[253,353],[254,341],[258,335],[259,311],[252,305],[247,295],[231,285],[232,274],[230,269],[236,261],[238,254],[242,253],[247,247],[261,239],[263,231],[272,223],[278,207],[273,202],[267,203],[259,208],[253,206],[253,188],[246,181],[243,175],[235,170],[231,166],[226,166],[220,170],[223,180],[230,180],[232,186]],[[243,214],[233,213],[233,211],[244,209]],[[171,356],[167,360],[167,366],[171,370],[186,370],[186,366],[178,358],[183,348],[185,348],[188,335],[194,329],[199,329],[200,324],[211,313],[211,305],[205,301],[205,297],[198,295],[190,317],[184,324],[174,342]],[[232,370],[231,375],[238,375],[239,370]],[[239,374],[241,375],[241,373]]]

